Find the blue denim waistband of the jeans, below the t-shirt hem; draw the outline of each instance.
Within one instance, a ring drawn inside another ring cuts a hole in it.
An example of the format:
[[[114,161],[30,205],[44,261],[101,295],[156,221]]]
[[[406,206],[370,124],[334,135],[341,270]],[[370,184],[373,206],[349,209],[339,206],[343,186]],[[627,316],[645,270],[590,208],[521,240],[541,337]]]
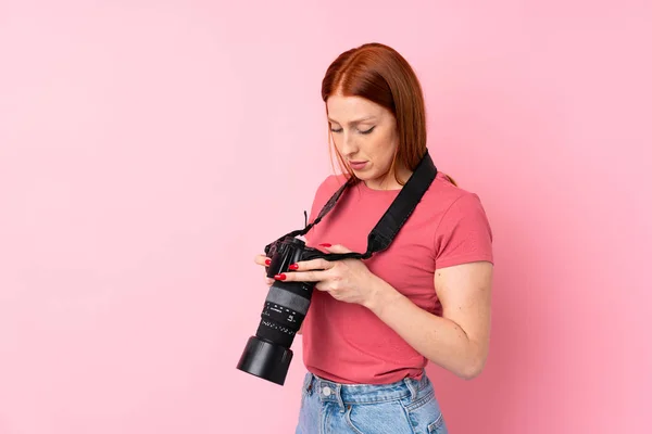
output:
[[[322,379],[312,372],[305,375],[305,393],[316,393],[322,401],[348,404],[375,404],[410,397],[417,399],[432,391],[432,384],[424,372],[419,380],[403,379],[390,384],[343,384]]]

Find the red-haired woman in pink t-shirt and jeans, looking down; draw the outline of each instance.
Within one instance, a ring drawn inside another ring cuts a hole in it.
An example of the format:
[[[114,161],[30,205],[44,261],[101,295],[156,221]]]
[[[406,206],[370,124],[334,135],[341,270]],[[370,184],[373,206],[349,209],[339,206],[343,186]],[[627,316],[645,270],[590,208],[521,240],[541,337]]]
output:
[[[365,252],[369,231],[426,152],[421,85],[396,50],[368,43],[334,61],[322,97],[342,175],[321,183],[311,221],[342,182],[355,183],[306,243]],[[482,370],[491,242],[477,194],[439,171],[386,251],[303,261],[276,276],[316,282],[302,324],[308,374],[297,434],[447,433],[425,367],[431,361],[464,379]],[[268,265],[264,255],[255,260]]]

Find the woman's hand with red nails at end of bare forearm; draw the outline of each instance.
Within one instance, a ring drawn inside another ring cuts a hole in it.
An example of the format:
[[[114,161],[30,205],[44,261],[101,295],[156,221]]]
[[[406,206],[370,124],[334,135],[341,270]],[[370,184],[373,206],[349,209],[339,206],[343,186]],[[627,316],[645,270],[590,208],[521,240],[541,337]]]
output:
[[[319,244],[328,253],[349,253],[343,245]],[[317,282],[315,289],[328,292],[334,298],[366,306],[378,288],[380,278],[369,271],[361,259],[329,261],[312,259],[290,266],[290,272],[277,275],[285,282]]]

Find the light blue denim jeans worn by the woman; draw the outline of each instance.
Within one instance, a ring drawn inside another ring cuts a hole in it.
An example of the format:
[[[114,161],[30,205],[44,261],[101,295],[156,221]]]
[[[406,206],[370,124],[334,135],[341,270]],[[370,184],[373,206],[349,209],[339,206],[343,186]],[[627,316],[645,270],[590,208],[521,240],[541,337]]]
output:
[[[421,381],[341,384],[305,375],[294,434],[448,434],[435,390]]]

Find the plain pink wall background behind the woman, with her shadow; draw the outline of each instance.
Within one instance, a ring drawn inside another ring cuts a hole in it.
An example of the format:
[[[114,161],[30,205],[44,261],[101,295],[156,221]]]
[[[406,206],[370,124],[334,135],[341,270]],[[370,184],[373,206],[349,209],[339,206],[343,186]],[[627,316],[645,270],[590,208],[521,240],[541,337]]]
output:
[[[451,432],[652,432],[650,3],[256,3],[0,2],[0,434],[293,432],[299,339],[285,387],[235,369],[252,258],[330,173],[321,79],[366,41],[494,230],[486,370],[429,368]]]

